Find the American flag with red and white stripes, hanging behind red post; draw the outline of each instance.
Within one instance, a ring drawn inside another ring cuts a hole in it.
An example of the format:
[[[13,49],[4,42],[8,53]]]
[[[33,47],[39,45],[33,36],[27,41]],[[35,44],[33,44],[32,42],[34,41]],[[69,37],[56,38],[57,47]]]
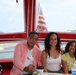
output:
[[[38,23],[36,26],[36,31],[38,32],[48,32],[46,27],[46,22],[43,16],[42,9],[40,8],[39,16],[38,16]]]

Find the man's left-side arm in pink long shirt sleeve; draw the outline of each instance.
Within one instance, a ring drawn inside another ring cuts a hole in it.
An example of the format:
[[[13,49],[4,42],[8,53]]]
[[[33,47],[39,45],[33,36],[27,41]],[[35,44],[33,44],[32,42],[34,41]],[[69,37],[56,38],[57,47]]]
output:
[[[23,70],[24,64],[22,63],[21,59],[21,50],[21,44],[18,44],[15,48],[13,63],[18,69]]]

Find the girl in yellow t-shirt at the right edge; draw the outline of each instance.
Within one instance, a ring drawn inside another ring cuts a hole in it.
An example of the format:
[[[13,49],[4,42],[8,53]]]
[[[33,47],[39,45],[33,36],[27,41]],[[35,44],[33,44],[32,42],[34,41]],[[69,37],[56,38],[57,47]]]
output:
[[[62,55],[62,65],[64,73],[71,73],[73,64],[76,63],[76,41],[70,41],[65,47],[65,52]]]

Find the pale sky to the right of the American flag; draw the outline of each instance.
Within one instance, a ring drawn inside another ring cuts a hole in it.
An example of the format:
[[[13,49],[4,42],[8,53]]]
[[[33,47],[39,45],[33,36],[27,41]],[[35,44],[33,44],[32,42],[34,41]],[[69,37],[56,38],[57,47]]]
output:
[[[40,0],[49,31],[76,30],[76,0]]]

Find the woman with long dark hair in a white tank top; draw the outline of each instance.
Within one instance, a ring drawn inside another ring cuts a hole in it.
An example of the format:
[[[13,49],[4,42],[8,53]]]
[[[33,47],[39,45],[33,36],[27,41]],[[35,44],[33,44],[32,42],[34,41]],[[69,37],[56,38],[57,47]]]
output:
[[[45,49],[41,59],[44,72],[61,72],[60,38],[56,32],[50,32],[44,41]]]

